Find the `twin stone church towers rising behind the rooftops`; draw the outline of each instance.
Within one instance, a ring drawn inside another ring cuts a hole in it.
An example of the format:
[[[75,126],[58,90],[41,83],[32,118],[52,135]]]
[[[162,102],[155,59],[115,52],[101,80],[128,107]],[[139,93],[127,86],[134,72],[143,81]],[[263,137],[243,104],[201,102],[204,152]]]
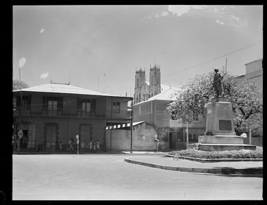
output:
[[[150,66],[149,83],[146,82],[146,70],[135,71],[135,95],[134,104],[146,101],[149,97],[153,97],[161,92],[160,87],[160,66]]]

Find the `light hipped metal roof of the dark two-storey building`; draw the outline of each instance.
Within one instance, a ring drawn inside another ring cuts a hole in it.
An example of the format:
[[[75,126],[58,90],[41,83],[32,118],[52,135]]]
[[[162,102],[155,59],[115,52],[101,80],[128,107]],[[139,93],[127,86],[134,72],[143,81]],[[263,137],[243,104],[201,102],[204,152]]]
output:
[[[20,90],[14,90],[13,92],[19,92]],[[21,91],[25,92],[52,92],[52,93],[64,93],[64,94],[76,94],[76,95],[98,95],[107,97],[121,97],[118,95],[109,95],[102,92],[96,92],[94,90],[88,90],[85,88],[78,88],[74,85],[60,84],[60,83],[47,83],[44,85],[37,85],[31,88],[24,88]],[[132,97],[126,97],[132,98]]]

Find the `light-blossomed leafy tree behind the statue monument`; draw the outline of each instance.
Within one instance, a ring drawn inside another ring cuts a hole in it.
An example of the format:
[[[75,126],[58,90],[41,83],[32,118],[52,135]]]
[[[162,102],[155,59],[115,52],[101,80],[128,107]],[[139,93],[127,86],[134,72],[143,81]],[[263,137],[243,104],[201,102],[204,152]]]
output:
[[[261,85],[248,79],[239,80],[232,74],[224,72],[222,81],[223,97],[232,102],[234,128],[243,129],[246,126],[255,131],[262,127],[263,122],[263,92]],[[171,118],[176,120],[189,116],[195,120],[197,115],[206,116],[205,104],[215,96],[212,89],[213,72],[196,75],[176,93],[176,100],[167,108]]]

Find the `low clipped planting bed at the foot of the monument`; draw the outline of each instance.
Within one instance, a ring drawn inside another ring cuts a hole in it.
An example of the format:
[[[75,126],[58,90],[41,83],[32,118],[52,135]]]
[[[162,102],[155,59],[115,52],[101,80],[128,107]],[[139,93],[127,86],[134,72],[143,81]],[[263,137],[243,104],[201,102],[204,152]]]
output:
[[[176,154],[193,158],[263,158],[262,147],[256,147],[256,150],[232,150],[232,151],[203,151],[198,149],[185,149],[182,151],[171,151],[169,154]]]

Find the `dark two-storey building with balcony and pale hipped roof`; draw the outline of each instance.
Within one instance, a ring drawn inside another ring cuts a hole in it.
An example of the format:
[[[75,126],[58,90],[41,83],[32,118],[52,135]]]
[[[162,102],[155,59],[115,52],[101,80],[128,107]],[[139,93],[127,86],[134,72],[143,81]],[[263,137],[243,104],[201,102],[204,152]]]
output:
[[[89,151],[90,140],[99,140],[101,150],[107,151],[110,147],[105,142],[106,126],[132,124],[128,110],[128,101],[132,101],[132,97],[49,83],[15,90],[13,99],[13,132],[17,135],[21,129],[24,133],[20,139],[21,151],[55,153],[61,151],[60,142],[62,151],[67,151],[71,138],[77,149],[76,135],[80,138],[80,151]]]

